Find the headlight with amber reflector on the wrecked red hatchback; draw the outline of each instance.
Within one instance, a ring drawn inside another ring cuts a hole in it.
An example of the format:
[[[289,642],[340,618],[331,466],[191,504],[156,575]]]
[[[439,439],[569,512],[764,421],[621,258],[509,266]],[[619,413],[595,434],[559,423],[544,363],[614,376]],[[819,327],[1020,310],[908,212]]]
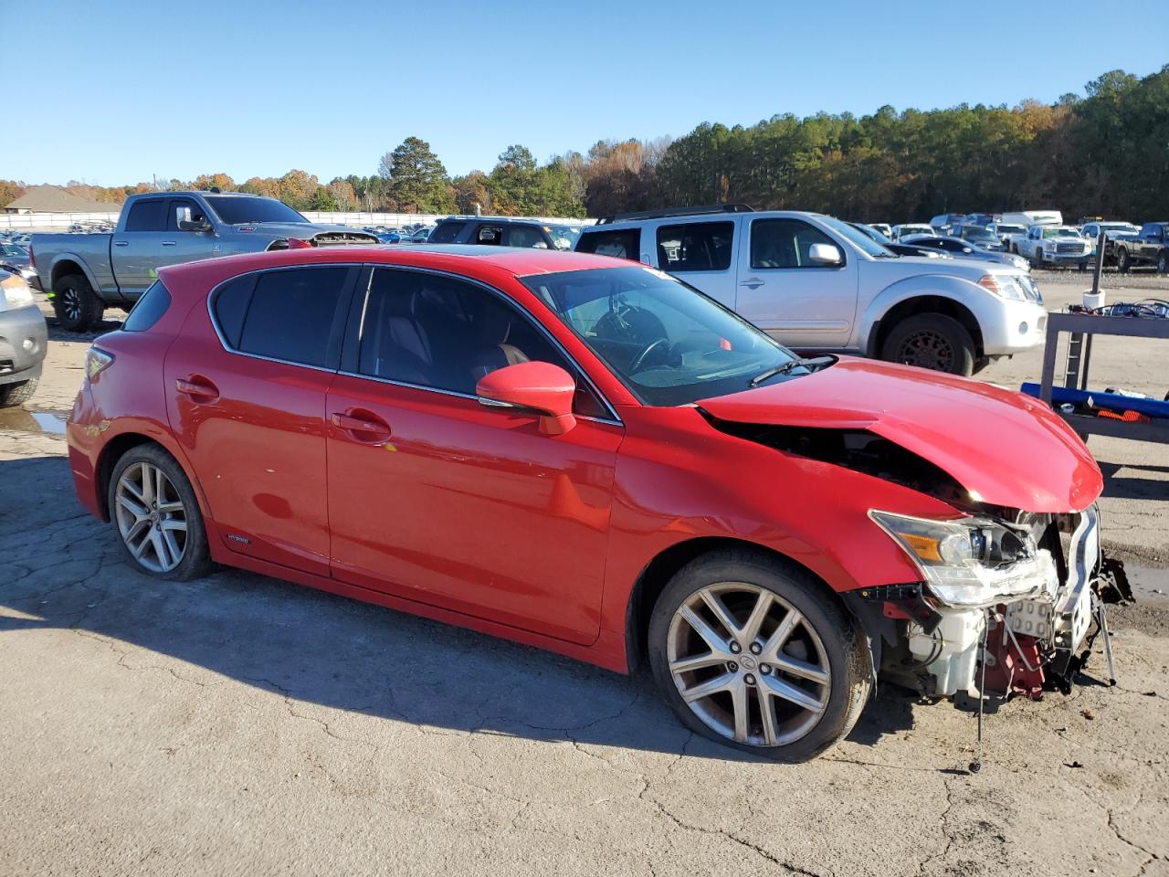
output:
[[[934,520],[869,512],[947,606],[982,607],[1053,591],[1051,552],[1030,532],[991,518]]]

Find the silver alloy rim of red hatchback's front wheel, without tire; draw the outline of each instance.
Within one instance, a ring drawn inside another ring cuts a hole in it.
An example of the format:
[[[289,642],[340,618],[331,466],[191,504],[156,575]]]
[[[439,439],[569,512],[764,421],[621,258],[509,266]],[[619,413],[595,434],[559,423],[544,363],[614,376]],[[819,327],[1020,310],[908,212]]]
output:
[[[666,660],[694,716],[736,743],[791,744],[828,707],[831,671],[819,634],[758,585],[719,582],[691,594],[670,621]]]

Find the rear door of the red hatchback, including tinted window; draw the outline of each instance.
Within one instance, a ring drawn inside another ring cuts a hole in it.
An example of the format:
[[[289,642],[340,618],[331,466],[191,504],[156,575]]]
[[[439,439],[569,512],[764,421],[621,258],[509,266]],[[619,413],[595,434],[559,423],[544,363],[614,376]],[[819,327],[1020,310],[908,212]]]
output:
[[[283,268],[222,284],[166,355],[171,427],[222,547],[328,575],[325,393],[357,267]]]

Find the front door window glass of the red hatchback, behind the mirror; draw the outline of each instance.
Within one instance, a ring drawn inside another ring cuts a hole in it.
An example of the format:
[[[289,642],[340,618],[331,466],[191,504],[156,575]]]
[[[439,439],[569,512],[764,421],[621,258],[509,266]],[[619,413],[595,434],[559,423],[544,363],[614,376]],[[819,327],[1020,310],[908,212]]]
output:
[[[609,414],[579,372],[518,306],[470,283],[378,268],[359,340],[358,372],[473,396],[484,375],[552,362],[576,379],[574,413]]]

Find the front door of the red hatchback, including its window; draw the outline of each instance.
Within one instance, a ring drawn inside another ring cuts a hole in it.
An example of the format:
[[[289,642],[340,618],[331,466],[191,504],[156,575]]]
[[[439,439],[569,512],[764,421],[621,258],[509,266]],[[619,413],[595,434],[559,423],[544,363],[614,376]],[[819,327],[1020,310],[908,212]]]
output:
[[[376,268],[326,410],[333,576],[572,642],[600,630],[623,430],[583,384],[576,427],[484,407],[479,378],[574,366],[505,296]],[[593,415],[596,415],[595,417]]]

